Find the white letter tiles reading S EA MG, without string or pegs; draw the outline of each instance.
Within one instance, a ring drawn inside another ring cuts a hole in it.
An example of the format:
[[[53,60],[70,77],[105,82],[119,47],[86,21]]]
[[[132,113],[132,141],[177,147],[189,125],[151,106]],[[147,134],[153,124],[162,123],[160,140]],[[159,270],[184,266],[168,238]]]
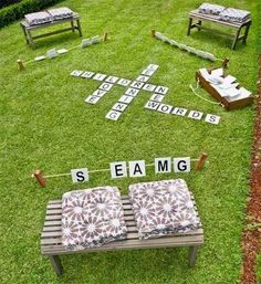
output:
[[[156,158],[154,164],[146,165],[145,160],[114,161],[109,162],[109,171],[112,179],[116,178],[137,178],[146,177],[146,166],[154,166],[155,173],[190,172],[190,157],[174,158]],[[86,182],[90,180],[87,168],[71,169],[71,177],[74,183]]]

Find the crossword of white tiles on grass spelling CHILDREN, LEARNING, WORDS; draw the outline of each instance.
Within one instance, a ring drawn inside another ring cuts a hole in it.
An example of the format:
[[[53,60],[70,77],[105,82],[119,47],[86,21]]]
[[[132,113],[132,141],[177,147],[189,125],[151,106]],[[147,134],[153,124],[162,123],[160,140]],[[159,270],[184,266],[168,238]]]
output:
[[[75,77],[82,78],[92,78],[95,81],[102,82],[96,91],[94,91],[88,97],[85,99],[87,104],[95,105],[105,96],[115,86],[124,86],[126,91],[118,98],[117,102],[114,103],[109,112],[106,114],[106,118],[111,120],[118,120],[118,118],[123,115],[123,113],[127,109],[130,103],[140,94],[140,92],[150,92],[153,95],[149,101],[145,104],[146,109],[156,111],[163,114],[170,114],[176,116],[188,117],[196,120],[201,120],[205,117],[205,122],[218,125],[220,123],[220,116],[207,114],[205,115],[199,111],[188,111],[184,107],[171,106],[168,104],[164,104],[163,101],[168,93],[168,87],[163,85],[155,85],[148,83],[154,73],[158,70],[159,65],[149,64],[142,73],[134,80],[122,78],[114,75],[106,75],[103,73],[94,73],[90,71],[79,71],[74,70],[71,75]]]

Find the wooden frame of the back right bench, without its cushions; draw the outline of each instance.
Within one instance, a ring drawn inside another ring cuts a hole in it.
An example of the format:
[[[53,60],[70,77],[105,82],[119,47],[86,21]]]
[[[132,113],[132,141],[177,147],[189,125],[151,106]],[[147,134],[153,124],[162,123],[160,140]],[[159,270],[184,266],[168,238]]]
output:
[[[196,20],[196,22],[194,22],[194,20]],[[202,27],[202,22],[212,22],[212,23],[217,23],[217,24],[220,24],[220,25],[223,25],[223,27],[227,27],[227,28],[232,28],[232,29],[236,29],[236,33],[231,34],[231,33],[222,32],[220,30]],[[249,19],[249,20],[247,20],[242,23],[227,22],[227,21],[220,20],[218,15],[203,14],[203,13],[199,13],[198,10],[195,10],[195,11],[191,11],[189,13],[189,24],[188,24],[187,34],[189,35],[191,29],[194,29],[194,28],[198,29],[198,31],[210,30],[212,32],[218,32],[220,34],[228,35],[228,36],[232,38],[233,42],[232,42],[231,49],[234,50],[238,41],[242,41],[243,43],[247,43],[248,33],[249,33],[249,29],[250,29],[251,23],[252,23],[251,19]],[[241,30],[243,28],[244,28],[244,33],[241,34]]]

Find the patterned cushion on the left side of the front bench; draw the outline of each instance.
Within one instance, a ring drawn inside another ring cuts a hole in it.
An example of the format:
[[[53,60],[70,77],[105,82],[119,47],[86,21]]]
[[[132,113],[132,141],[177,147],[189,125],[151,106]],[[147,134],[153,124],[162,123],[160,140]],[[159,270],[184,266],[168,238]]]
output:
[[[121,194],[115,187],[71,191],[62,198],[62,244],[84,250],[126,238]]]

